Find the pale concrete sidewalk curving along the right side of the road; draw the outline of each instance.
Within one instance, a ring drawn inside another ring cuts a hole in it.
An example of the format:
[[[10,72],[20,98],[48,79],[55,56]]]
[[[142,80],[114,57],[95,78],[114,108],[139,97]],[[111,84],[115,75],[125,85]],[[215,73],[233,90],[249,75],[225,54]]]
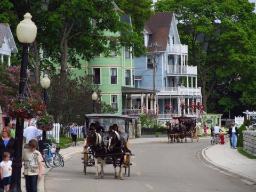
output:
[[[202,151],[202,156],[221,170],[247,180],[251,185],[256,184],[256,159],[243,156],[236,149],[231,149],[229,144],[207,147]]]

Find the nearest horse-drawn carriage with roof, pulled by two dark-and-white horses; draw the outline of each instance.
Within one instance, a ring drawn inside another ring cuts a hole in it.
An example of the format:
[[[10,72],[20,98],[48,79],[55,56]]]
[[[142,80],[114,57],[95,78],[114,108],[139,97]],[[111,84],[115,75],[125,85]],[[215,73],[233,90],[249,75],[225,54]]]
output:
[[[95,166],[95,179],[98,179],[98,162],[101,165],[100,177],[103,178],[103,167],[106,164],[113,164],[115,178],[123,179],[122,168],[125,168],[130,177],[131,161],[133,155],[129,147],[129,123],[133,117],[113,114],[89,114],[85,115],[86,139],[84,142],[83,164],[86,175],[87,166]],[[90,125],[98,122],[102,130],[99,132],[90,129]],[[117,129],[112,129],[116,125]],[[117,126],[118,125],[118,126]],[[109,127],[111,130],[109,130]],[[119,174],[116,171],[119,166]]]

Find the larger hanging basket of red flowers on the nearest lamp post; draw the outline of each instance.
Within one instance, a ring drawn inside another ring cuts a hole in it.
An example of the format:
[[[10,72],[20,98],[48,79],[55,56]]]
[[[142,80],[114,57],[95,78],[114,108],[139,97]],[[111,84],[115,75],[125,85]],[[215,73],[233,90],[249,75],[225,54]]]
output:
[[[17,95],[7,100],[7,114],[11,118],[37,118],[45,114],[46,106],[41,99]]]

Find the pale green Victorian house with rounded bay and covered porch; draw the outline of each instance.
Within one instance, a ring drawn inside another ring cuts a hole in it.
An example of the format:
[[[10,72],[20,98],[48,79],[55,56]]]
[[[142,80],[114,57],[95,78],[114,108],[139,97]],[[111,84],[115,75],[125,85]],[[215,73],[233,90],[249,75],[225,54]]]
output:
[[[121,20],[132,25],[130,14],[122,14]],[[121,33],[122,31],[118,33],[106,31],[105,35],[116,37],[121,36]],[[81,60],[81,69],[69,68],[76,76],[92,75],[93,83],[101,90],[101,102],[110,105],[116,114],[138,115],[143,110],[143,107],[139,108],[139,104],[137,109],[132,109],[131,94],[142,95],[142,99],[143,94],[155,96],[153,90],[134,88],[134,58],[130,47],[122,47],[119,52],[113,51],[110,57],[97,54],[90,61]]]

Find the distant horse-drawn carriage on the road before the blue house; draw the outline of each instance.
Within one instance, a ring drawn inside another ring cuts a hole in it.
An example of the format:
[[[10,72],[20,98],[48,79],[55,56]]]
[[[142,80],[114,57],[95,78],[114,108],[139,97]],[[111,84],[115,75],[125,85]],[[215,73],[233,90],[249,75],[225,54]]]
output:
[[[166,121],[166,126],[169,143],[175,140],[182,142],[183,139],[187,142],[187,137],[191,138],[191,142],[193,139],[198,142],[198,126],[195,117],[173,117],[170,121]]]

